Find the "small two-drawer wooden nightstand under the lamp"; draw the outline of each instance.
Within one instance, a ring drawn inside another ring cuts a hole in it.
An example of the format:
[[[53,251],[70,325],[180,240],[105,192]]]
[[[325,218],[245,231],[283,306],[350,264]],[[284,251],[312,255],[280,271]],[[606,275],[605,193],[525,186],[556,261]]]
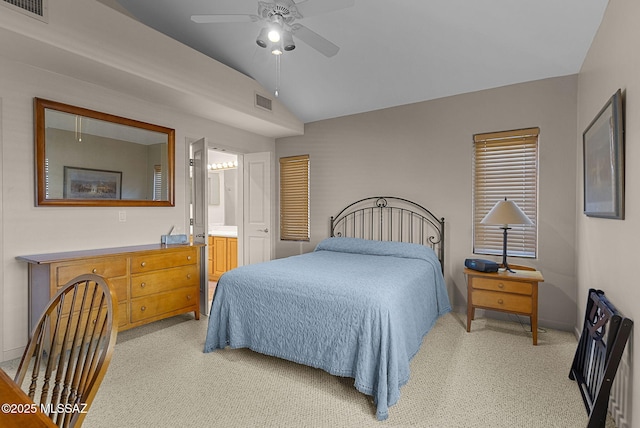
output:
[[[476,308],[527,315],[531,319],[533,344],[538,344],[538,283],[542,274],[528,267],[511,266],[508,271],[478,272],[464,268],[467,276],[467,331]]]

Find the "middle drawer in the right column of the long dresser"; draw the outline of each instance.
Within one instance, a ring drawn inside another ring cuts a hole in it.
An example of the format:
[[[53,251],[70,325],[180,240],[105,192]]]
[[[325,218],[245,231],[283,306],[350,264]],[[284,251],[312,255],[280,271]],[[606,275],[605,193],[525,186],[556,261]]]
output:
[[[199,287],[198,266],[189,265],[131,275],[131,297],[175,290],[180,287]]]

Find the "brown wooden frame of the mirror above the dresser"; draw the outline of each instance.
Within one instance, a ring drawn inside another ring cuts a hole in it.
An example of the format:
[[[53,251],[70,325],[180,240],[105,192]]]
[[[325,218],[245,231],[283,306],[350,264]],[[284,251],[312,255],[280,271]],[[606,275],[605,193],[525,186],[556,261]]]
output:
[[[131,126],[167,135],[167,199],[51,199],[46,197],[46,124],[45,110],[79,115],[119,125]],[[173,207],[175,206],[175,130],[159,125],[127,119],[108,113],[76,107],[42,98],[34,99],[35,111],[35,183],[36,206],[66,207]]]

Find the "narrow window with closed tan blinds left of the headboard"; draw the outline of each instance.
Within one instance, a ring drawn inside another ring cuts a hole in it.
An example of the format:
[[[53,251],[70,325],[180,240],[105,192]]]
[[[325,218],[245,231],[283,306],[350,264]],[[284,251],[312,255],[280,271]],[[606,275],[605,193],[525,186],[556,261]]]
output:
[[[309,240],[309,155],[280,158],[280,239]]]

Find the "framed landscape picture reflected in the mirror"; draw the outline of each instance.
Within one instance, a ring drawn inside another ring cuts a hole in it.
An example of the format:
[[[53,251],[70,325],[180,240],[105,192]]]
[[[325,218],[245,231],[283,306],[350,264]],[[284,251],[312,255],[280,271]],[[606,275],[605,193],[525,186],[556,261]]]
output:
[[[65,166],[63,193],[69,199],[121,199],[122,172]]]

